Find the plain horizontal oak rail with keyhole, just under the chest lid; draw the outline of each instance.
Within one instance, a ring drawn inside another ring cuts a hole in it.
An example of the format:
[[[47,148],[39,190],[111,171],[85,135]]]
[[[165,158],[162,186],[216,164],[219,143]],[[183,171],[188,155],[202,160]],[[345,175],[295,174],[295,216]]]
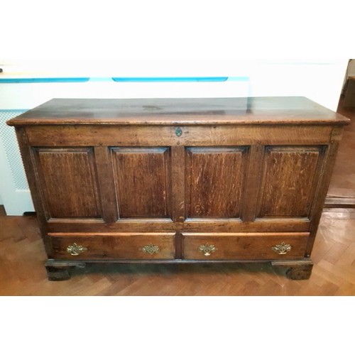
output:
[[[31,122],[31,121],[30,121]],[[10,121],[11,123],[11,121]],[[11,123],[12,124],[12,123]],[[80,130],[70,125],[28,126],[26,133],[31,146],[250,146],[263,142],[280,144],[327,144],[332,127],[312,125],[253,126],[182,126],[181,136],[176,136],[175,126],[94,126],[81,125]],[[75,125],[75,123],[73,123]],[[287,126],[289,129],[285,129]],[[207,139],[208,137],[208,139]]]

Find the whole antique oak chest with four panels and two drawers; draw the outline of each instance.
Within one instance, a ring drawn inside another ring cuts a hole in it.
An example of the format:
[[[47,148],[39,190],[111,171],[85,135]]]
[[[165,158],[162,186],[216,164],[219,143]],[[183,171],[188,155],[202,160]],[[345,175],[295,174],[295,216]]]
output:
[[[309,278],[348,120],[304,97],[53,99],[11,119],[50,280],[268,261]]]

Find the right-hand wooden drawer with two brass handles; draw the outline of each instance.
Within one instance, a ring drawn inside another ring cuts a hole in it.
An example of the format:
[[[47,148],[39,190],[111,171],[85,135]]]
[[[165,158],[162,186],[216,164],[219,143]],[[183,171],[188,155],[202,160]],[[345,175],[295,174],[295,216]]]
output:
[[[309,233],[184,233],[183,258],[195,260],[297,259]]]

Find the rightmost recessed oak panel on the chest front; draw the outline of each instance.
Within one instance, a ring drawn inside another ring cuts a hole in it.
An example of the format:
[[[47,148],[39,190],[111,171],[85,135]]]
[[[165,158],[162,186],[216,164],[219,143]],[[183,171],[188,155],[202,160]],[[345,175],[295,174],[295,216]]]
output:
[[[308,217],[321,147],[267,147],[258,217]]]

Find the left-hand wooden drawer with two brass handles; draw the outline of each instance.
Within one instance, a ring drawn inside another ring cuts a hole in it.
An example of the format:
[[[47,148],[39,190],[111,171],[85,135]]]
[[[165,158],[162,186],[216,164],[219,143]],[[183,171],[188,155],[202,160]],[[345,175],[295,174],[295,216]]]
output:
[[[60,259],[173,259],[175,233],[48,234]]]

